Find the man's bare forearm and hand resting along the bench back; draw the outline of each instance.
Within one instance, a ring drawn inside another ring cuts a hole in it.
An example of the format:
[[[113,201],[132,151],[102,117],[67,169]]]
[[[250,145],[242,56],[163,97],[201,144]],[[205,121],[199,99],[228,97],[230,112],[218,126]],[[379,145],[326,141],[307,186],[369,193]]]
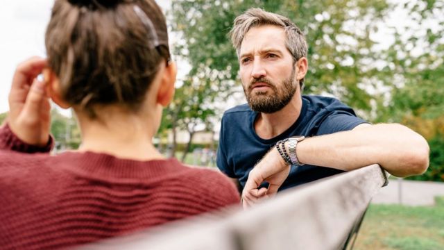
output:
[[[300,163],[345,171],[377,163],[400,177],[422,174],[429,165],[427,141],[400,124],[361,124],[352,131],[307,138],[298,143],[296,154]],[[266,194],[275,194],[288,172],[289,165],[273,147],[250,171],[244,200],[258,199],[257,187],[264,181],[271,184]]]

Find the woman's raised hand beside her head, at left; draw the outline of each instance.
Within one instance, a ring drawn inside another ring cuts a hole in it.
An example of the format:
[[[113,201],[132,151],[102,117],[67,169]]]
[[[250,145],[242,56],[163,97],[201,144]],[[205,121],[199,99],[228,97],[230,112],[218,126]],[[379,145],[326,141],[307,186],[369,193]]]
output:
[[[8,124],[20,140],[44,146],[51,124],[49,98],[45,84],[37,76],[46,67],[46,59],[33,57],[17,66],[9,93]]]

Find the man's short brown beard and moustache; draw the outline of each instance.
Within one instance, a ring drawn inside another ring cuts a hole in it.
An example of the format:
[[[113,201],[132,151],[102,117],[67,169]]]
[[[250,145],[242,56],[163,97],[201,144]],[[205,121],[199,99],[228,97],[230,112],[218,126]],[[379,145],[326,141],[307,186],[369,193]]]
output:
[[[250,108],[256,112],[270,114],[287,106],[297,90],[297,84],[294,82],[294,74],[295,67],[291,70],[291,76],[282,81],[282,88],[279,90],[275,84],[271,83],[271,81],[265,77],[253,79],[250,85],[248,85],[248,90],[244,87],[245,97]],[[256,90],[255,93],[252,93],[254,83],[266,83],[270,86],[271,91],[262,92]]]

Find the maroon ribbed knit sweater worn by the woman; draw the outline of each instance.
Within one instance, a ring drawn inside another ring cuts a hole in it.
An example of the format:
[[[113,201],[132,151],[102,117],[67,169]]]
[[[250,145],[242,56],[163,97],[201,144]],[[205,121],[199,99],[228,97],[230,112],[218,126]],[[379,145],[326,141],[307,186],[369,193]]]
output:
[[[210,169],[35,153],[50,148],[0,128],[0,249],[73,247],[239,203],[234,184]]]

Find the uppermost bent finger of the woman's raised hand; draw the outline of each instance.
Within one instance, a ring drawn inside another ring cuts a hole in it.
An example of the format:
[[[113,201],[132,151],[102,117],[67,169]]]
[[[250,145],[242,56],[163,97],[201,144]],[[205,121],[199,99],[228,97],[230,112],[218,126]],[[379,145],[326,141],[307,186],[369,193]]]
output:
[[[30,84],[33,78],[37,77],[46,67],[46,59],[34,56],[20,63],[12,78],[11,89],[22,88],[25,83]]]

